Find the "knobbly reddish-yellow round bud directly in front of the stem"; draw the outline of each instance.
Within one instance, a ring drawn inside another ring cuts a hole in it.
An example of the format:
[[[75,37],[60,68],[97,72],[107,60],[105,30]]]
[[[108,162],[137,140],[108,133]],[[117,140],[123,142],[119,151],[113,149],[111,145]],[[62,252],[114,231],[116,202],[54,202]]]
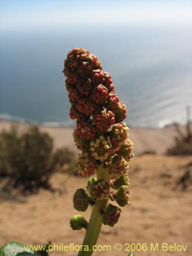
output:
[[[110,185],[100,179],[90,185],[90,198],[92,201],[100,201],[109,198]]]

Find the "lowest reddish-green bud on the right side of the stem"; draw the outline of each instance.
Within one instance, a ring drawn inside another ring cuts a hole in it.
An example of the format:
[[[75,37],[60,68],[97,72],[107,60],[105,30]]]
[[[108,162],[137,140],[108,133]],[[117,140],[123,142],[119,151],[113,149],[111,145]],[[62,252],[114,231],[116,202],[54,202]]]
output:
[[[113,227],[119,220],[121,209],[115,205],[109,204],[102,216],[102,223]]]

